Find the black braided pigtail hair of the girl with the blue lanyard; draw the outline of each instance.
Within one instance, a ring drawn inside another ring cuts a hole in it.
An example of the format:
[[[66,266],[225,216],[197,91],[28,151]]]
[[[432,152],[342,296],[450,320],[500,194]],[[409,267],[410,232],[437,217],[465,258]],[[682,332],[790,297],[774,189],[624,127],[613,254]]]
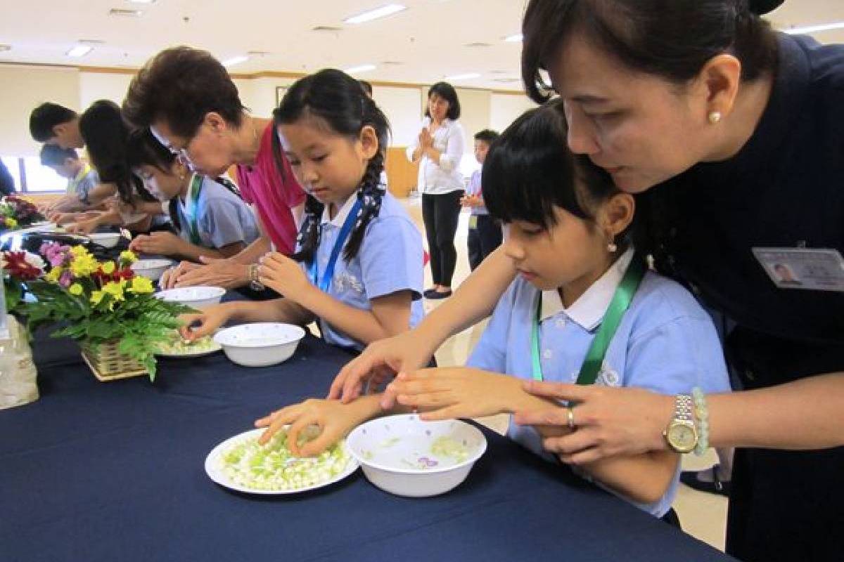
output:
[[[378,152],[367,163],[364,176],[360,179],[357,196],[362,204],[361,211],[343,254],[348,262],[358,254],[366,226],[381,210],[381,197],[385,191],[381,185],[381,172],[384,170],[390,124],[387,116],[365,94],[357,80],[345,72],[331,68],[300,78],[290,86],[279,107],[273,111],[276,126],[295,123],[306,115],[322,120],[331,131],[350,139],[359,138],[360,131],[365,126],[375,129],[378,136]],[[281,158],[278,135],[273,132],[273,137],[274,152],[278,161]],[[294,254],[294,260],[306,263],[314,260],[319,245],[320,221],[324,208],[316,197],[308,195],[305,220],[297,239],[300,249]]]

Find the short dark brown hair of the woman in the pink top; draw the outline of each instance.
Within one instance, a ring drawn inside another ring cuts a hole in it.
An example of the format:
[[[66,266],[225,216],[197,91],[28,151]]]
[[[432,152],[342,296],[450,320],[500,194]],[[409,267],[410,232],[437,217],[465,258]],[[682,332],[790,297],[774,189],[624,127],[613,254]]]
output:
[[[123,100],[123,115],[133,126],[164,120],[186,138],[212,111],[239,127],[245,109],[225,67],[208,51],[187,46],[165,49],[146,62]]]

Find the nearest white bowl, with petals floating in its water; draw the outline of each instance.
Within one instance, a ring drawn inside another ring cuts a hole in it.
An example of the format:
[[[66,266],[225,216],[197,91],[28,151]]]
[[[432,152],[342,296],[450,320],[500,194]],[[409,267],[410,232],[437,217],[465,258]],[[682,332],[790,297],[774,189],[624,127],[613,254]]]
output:
[[[453,448],[443,452],[435,445]],[[486,437],[465,421],[422,421],[415,414],[400,414],[354,428],[346,447],[381,490],[426,497],[463,482],[486,451]]]

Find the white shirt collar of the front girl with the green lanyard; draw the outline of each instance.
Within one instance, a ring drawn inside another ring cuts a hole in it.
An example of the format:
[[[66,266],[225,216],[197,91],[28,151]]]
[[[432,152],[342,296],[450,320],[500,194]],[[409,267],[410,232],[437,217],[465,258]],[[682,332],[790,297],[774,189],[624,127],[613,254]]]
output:
[[[569,308],[563,306],[560,292],[556,289],[543,291],[542,311],[539,314],[540,321],[547,320],[562,312],[577,324],[580,324],[583,329],[591,332],[597,328],[598,324],[601,324],[607,308],[609,308],[609,302],[613,300],[615,289],[618,288],[621,278],[625,276],[625,271],[630,266],[630,262],[633,261],[633,254],[632,248],[621,254],[621,257],[615,260],[613,265],[610,265],[609,270],[606,270],[598,281],[592,283],[586,292]]]

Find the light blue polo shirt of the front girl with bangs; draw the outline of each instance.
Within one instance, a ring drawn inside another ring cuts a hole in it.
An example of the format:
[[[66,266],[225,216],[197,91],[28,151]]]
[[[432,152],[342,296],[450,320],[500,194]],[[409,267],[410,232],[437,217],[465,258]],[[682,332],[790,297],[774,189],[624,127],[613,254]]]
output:
[[[545,291],[539,324],[544,380],[575,383],[589,345],[616,287],[633,257],[628,250],[568,309],[556,291]],[[531,329],[539,290],[518,278],[501,297],[490,324],[468,359],[468,367],[533,377]],[[709,314],[690,292],[652,271],[645,274],[630,308],[610,342],[596,384],[641,387],[662,394],[730,391],[721,343]],[[530,426],[511,421],[507,435],[549,461],[542,438]],[[631,502],[663,517],[674,501],[679,463],[665,495],[655,503]],[[612,491],[612,490],[610,490]],[[625,498],[626,499],[626,498]]]

